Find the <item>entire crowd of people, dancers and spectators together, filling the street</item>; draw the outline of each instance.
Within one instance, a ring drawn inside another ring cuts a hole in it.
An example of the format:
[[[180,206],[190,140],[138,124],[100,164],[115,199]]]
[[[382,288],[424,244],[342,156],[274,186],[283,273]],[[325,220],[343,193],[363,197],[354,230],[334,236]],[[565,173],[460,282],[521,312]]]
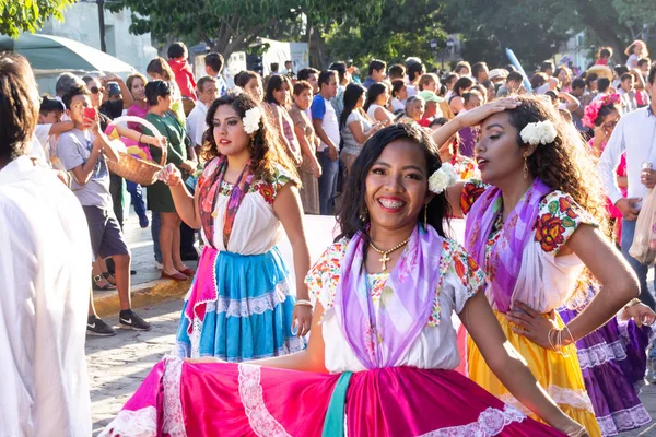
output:
[[[602,48],[585,71],[544,61],[529,75],[290,62],[229,88],[220,54],[197,80],[174,43],[149,79],[63,74],[39,103],[25,60],[3,55],[0,285],[21,309],[0,326],[17,332],[4,338],[22,366],[0,394],[19,400],[10,425],[89,434],[87,402],[70,406],[87,390],[71,308],[92,283],[118,291],[122,328],[150,329],[130,305],[124,184],[162,277],[192,282],[175,356],[103,436],[613,436],[648,423],[637,391],[656,382],[656,302],[629,250],[656,186],[656,63],[644,42],[626,56],[611,68]],[[144,121],[113,122],[124,115]],[[145,196],[110,172],[121,142],[163,164]],[[304,214],[338,223],[314,264]],[[114,334],[90,302],[87,333]],[[40,330],[19,347],[25,323]]]

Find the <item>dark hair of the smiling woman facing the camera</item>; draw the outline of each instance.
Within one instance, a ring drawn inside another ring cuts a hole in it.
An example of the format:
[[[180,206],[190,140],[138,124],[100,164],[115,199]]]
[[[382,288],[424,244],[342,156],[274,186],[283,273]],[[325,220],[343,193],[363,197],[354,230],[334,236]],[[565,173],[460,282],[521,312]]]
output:
[[[368,218],[367,221],[360,218],[363,212],[366,211],[366,177],[385,147],[397,140],[412,141],[423,150],[424,165],[426,166],[426,194],[429,193],[429,177],[442,167],[438,149],[432,137],[423,128],[408,123],[391,125],[382,129],[366,141],[362,152],[351,166],[344,184],[342,201],[336,214],[337,223],[341,228],[341,235],[337,239],[342,237],[352,238],[358,232],[362,232],[368,241]],[[446,236],[446,231],[449,228],[448,217],[450,216],[450,206],[446,200],[446,193],[435,194],[427,209],[427,224],[433,226],[441,236]],[[418,222],[420,222],[420,215],[422,215],[421,212],[417,216]]]

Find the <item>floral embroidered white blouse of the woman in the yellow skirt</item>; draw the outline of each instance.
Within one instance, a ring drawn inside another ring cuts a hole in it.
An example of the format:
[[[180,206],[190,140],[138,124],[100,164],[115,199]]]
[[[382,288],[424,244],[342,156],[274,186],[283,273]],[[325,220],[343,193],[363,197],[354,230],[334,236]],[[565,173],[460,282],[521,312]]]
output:
[[[482,181],[473,179],[465,185],[460,196],[462,214],[469,213],[487,188]],[[541,200],[538,220],[531,229],[535,237],[524,248],[522,270],[512,302],[519,300],[537,311],[549,312],[573,297],[585,265],[575,253],[559,256],[559,251],[582,224],[597,226],[594,218],[570,194],[557,190]],[[500,214],[488,239],[488,256],[499,239],[502,227]],[[487,296],[495,308],[493,296]]]

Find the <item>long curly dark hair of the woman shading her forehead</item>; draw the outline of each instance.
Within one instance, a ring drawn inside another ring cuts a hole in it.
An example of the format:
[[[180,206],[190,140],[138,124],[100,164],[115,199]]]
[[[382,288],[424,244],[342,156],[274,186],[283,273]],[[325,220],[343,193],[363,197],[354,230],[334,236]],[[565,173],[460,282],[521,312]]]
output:
[[[528,157],[530,174],[539,177],[552,190],[572,196],[606,231],[607,213],[600,188],[602,185],[583,138],[542,98],[522,95],[516,96],[516,99],[520,105],[505,113],[509,116],[509,123],[517,129],[517,144],[520,147],[528,147],[520,135],[528,123],[550,120],[558,132],[553,142],[538,145]]]

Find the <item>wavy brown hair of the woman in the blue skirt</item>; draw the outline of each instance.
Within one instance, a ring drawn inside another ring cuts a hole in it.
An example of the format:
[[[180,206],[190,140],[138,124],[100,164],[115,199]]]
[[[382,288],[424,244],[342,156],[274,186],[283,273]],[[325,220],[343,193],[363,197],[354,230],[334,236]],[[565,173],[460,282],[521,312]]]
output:
[[[212,105],[210,105],[208,115],[206,116],[208,129],[202,135],[200,156],[206,162],[210,162],[213,158],[221,156],[216,141],[214,140],[214,114],[220,106],[224,105],[232,107],[242,119],[246,116],[248,109],[259,108],[261,110],[262,117],[260,118],[259,129],[255,132],[250,143],[250,168],[256,178],[262,178],[272,182],[276,173],[274,166],[280,165],[292,176],[296,186],[300,186],[296,166],[288,156],[285,149],[280,143],[278,137],[270,133],[276,132],[276,130],[270,126],[265,110],[246,93],[231,92],[216,98]]]

